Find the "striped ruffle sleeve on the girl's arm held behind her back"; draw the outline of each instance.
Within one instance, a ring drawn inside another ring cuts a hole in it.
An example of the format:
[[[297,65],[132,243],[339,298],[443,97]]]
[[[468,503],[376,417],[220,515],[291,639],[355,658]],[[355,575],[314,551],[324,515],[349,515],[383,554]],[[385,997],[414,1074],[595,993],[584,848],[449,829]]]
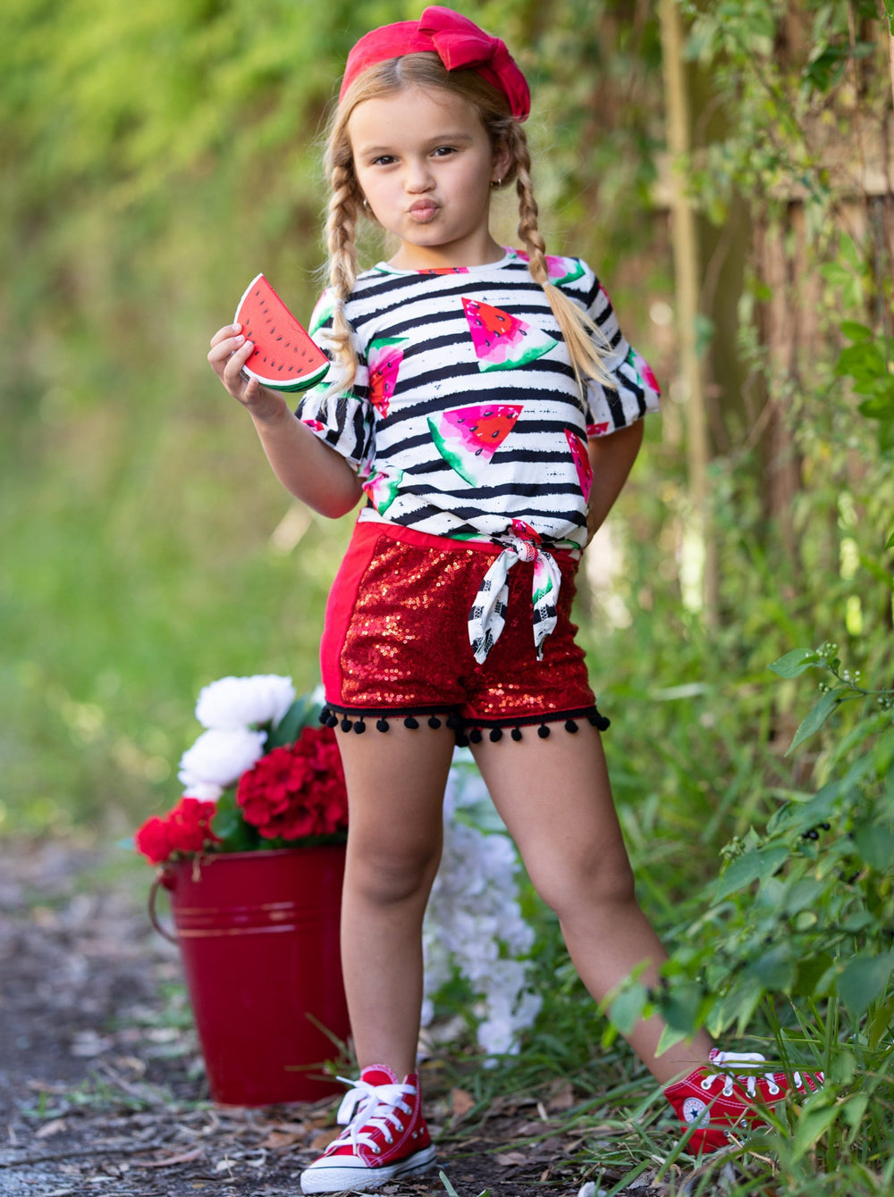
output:
[[[657,412],[660,390],[650,364],[621,332],[609,294],[596,278],[587,314],[605,339],[603,365],[614,381],[614,387],[587,384],[587,436],[604,437]]]

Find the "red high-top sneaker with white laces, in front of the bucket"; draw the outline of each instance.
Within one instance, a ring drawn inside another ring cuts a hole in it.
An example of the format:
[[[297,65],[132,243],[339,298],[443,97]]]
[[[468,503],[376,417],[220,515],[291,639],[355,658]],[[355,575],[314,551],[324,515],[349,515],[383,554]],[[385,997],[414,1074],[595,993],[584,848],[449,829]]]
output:
[[[344,1080],[344,1077],[340,1077]],[[425,1172],[435,1149],[422,1117],[419,1078],[400,1084],[383,1064],[372,1064],[338,1110],[344,1130],[301,1173],[304,1193],[368,1192],[395,1177]]]

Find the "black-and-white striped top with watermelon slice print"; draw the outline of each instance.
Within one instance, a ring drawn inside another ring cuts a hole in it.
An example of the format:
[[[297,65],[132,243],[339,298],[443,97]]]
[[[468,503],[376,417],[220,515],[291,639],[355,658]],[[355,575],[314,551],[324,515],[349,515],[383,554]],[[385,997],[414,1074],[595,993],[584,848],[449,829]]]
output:
[[[659,394],[590,267],[548,263],[606,339],[615,388],[591,382],[584,407],[527,255],[507,250],[499,262],[447,271],[380,263],[357,278],[345,304],[360,360],[354,388],[339,394],[330,376],[297,414],[357,468],[368,500],[361,519],[459,540],[520,533],[550,547],[586,543],[587,437],[657,411]],[[331,326],[325,292],[310,323],[324,351]]]

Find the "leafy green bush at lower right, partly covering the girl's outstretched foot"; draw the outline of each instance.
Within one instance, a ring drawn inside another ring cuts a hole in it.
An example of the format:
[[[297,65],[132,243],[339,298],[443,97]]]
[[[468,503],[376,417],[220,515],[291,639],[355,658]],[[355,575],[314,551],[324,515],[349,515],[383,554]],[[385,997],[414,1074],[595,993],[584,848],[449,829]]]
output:
[[[822,718],[796,735],[835,712],[822,784],[777,789],[766,826],[730,841],[720,875],[687,903],[663,986],[632,980],[610,1007],[621,1032],[660,1011],[665,1047],[703,1026],[763,1039],[781,1068],[823,1069],[826,1086],[787,1112],[774,1144],[802,1181],[816,1171],[808,1156],[871,1169],[894,1143],[894,688],[864,689],[835,650],[797,649],[772,666],[781,679],[834,679],[814,707]],[[804,1191],[827,1191],[811,1183]]]

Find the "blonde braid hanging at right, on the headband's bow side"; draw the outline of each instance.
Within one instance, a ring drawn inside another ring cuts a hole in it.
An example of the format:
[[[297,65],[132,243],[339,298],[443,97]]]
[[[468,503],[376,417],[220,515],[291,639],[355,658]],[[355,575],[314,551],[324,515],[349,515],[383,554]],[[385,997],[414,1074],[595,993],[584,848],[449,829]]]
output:
[[[556,317],[564,342],[568,346],[568,356],[572,360],[572,369],[574,370],[578,387],[582,394],[587,378],[592,378],[604,385],[614,387],[615,383],[603,364],[603,357],[610,350],[605,334],[582,309],[549,280],[546,243],[537,223],[539,208],[537,207],[533,182],[531,180],[531,151],[527,146],[525,130],[518,121],[513,122],[509,130],[508,145],[517,172],[515,190],[519,196],[519,237],[530,257],[528,269],[531,278],[543,287],[549,305],[552,309],[552,315]]]

